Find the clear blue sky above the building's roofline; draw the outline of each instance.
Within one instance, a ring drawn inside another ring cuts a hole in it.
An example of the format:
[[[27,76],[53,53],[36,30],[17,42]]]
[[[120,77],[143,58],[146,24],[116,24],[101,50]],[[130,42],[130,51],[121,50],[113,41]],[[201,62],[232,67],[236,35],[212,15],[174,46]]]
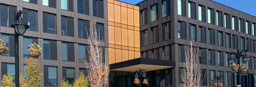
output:
[[[137,4],[143,0],[119,0],[126,3]],[[248,13],[256,17],[256,0],[213,0],[215,2],[221,3],[232,7],[233,9],[240,10],[242,12]]]

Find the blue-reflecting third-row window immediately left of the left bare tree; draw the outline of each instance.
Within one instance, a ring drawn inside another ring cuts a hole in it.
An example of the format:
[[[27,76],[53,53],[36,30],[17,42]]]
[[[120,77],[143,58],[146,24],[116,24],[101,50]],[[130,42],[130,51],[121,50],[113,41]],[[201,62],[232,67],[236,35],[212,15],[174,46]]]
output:
[[[85,61],[85,45],[78,44],[78,60],[79,62]]]

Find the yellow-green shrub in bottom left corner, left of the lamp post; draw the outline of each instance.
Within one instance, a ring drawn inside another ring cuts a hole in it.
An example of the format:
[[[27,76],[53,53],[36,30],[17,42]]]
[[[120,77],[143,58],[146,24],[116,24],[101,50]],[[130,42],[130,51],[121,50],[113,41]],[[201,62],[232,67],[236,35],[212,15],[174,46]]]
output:
[[[15,87],[15,84],[13,83],[14,77],[12,75],[7,74],[3,75],[2,81],[1,81],[1,87]]]

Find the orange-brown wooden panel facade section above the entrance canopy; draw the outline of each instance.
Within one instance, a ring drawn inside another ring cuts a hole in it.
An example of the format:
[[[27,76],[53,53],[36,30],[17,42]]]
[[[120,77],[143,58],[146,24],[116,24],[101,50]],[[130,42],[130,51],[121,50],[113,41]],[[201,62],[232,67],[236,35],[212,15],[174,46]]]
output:
[[[139,7],[108,0],[109,64],[140,57]]]

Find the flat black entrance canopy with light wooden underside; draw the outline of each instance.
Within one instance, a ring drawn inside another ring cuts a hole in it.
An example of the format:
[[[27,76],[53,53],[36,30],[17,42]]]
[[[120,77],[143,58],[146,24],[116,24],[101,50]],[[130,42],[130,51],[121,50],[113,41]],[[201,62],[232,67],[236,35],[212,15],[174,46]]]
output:
[[[133,60],[113,63],[110,65],[110,70],[135,72],[139,69],[145,69],[145,72],[147,72],[172,67],[175,67],[175,62],[170,60],[135,58]]]

